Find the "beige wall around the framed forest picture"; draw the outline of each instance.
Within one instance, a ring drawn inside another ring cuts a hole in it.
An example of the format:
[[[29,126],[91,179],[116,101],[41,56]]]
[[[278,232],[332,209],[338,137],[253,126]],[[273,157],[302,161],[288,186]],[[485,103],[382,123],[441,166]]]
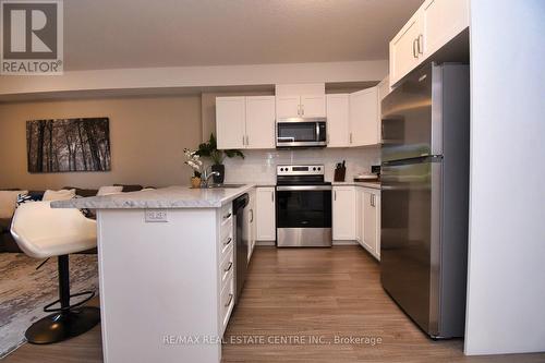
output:
[[[110,119],[111,171],[28,173],[25,122],[84,117]],[[0,187],[189,184],[183,148],[201,138],[198,95],[0,104]]]

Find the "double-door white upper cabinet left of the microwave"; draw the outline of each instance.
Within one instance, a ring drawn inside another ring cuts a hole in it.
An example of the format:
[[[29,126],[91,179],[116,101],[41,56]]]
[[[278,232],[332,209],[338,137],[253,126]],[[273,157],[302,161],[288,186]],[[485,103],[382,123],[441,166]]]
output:
[[[275,96],[216,97],[218,148],[275,148]]]

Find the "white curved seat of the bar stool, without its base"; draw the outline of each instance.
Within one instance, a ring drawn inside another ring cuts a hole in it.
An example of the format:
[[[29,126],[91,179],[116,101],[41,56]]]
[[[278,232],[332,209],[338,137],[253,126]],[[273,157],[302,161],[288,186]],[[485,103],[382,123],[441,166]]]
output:
[[[96,246],[96,221],[77,209],[53,209],[50,202],[19,206],[11,233],[25,254],[47,258]]]

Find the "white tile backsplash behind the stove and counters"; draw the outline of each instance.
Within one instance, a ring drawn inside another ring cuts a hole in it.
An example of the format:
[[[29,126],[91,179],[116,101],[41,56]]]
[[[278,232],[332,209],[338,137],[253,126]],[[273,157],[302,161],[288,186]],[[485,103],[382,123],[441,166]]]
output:
[[[226,159],[226,182],[275,184],[277,165],[324,165],[326,181],[334,180],[337,162],[347,161],[346,181],[354,174],[371,172],[371,166],[380,162],[380,147],[243,150],[245,159]]]

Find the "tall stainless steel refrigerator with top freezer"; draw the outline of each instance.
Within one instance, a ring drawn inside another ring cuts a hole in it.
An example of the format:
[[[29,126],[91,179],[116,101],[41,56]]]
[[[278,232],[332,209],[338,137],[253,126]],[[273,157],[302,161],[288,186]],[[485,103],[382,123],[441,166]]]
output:
[[[469,66],[429,63],[382,104],[380,279],[432,338],[465,320]]]

